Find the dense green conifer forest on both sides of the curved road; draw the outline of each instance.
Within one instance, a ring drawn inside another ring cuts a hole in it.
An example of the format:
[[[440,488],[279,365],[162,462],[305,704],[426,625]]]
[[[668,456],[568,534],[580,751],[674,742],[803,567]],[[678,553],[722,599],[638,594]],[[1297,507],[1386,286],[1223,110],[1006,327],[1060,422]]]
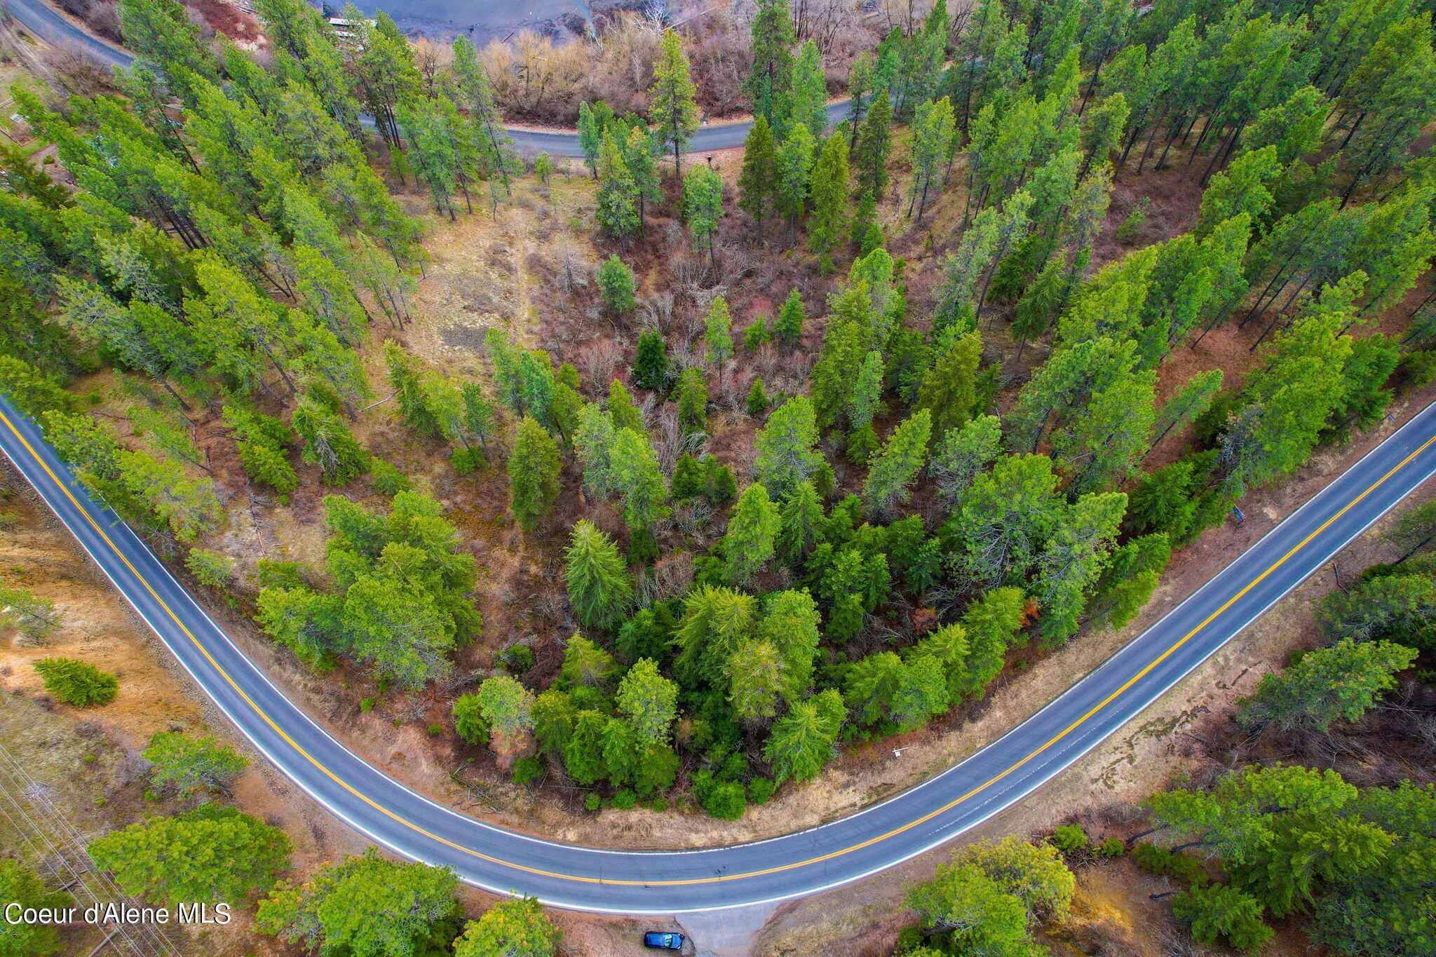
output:
[[[1018,651],[1126,626],[1173,550],[1436,377],[1419,290],[1436,62],[1410,0],[939,0],[852,57],[836,128],[813,26],[758,0],[737,175],[685,155],[704,77],[684,32],[658,34],[640,112],[579,105],[574,172],[514,149],[493,50],[460,39],[441,62],[382,13],[339,34],[299,0],[256,7],[263,57],[208,40],[177,0],[125,0],[139,60],[112,89],[14,88],[57,162],[0,152],[0,392],[307,667],[358,676],[369,707],[441,696],[513,781],[577,786],[590,811],[678,799],[737,819],[844,742],[981,699]],[[580,362],[551,326],[491,327],[477,376],[406,349],[426,237],[574,175],[592,198],[561,218],[600,257],[554,270],[559,321],[589,323],[612,360]],[[1113,235],[1114,184],[1152,176],[1190,191],[1189,228],[1150,241],[1134,202]],[[768,310],[748,308],[760,288]],[[1246,359],[1178,382],[1208,336]],[[102,369],[129,403],[118,428],[86,407]],[[536,551],[561,542],[546,638],[561,663],[541,680],[524,643],[455,670],[484,636],[485,555],[365,446],[373,416],[442,448],[470,488],[507,488]],[[277,508],[327,488],[322,562],[240,572],[201,420]],[[1360,614],[1425,627],[1432,575],[1412,575],[1400,594],[1371,584]],[[1343,626],[1333,653],[1410,666],[1381,621]],[[1302,680],[1346,666],[1318,667]],[[1295,720],[1282,694],[1248,719]],[[1232,801],[1256,778],[1225,785]],[[1381,801],[1416,792],[1429,802]],[[134,841],[263,826],[225,814]],[[240,841],[263,852],[236,897],[274,884],[281,838]],[[103,841],[119,867],[125,835]],[[260,924],[332,953],[322,898],[392,867],[283,885]],[[412,880],[447,944],[452,887]],[[1423,953],[1426,931],[1364,933],[1325,938]],[[959,938],[939,943],[1028,953]]]

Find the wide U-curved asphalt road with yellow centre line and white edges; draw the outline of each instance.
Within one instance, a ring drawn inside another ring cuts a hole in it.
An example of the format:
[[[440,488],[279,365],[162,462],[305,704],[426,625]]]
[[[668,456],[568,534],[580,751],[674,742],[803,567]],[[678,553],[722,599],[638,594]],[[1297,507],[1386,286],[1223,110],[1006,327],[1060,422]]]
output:
[[[39,429],[0,399],[0,449],[236,727],[316,802],[470,884],[610,913],[682,913],[801,897],[929,851],[1032,793],[1136,717],[1436,472],[1436,405],[1373,449],[1180,605],[1041,712],[883,803],[755,844],[602,851],[442,808],[365,763],[236,647],[149,548],[90,499]]]

